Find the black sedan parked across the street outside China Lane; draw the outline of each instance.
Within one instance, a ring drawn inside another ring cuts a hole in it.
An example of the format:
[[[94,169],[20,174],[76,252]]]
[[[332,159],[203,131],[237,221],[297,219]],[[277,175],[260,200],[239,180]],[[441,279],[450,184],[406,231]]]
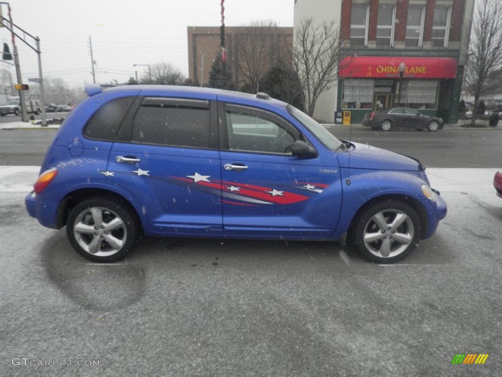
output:
[[[366,113],[362,119],[364,126],[373,130],[415,129],[437,131],[443,128],[443,120],[423,115],[410,108],[388,108]]]

